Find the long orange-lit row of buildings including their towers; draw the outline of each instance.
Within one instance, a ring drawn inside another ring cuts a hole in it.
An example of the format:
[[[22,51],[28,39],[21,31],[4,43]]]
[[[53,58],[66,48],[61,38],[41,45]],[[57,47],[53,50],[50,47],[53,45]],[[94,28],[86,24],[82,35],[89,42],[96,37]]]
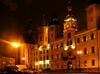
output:
[[[42,69],[100,69],[100,4],[89,2],[86,8],[87,29],[78,31],[77,20],[68,6],[68,15],[63,23],[63,37],[57,16],[48,25],[43,17],[38,27],[38,41],[28,44],[29,64]],[[28,58],[25,56],[25,63]]]

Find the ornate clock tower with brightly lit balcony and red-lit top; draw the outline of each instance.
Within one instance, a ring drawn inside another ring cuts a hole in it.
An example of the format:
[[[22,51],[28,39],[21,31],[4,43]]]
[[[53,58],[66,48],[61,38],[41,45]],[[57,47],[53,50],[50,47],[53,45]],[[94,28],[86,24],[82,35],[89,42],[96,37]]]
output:
[[[68,6],[68,15],[64,19],[64,50],[65,57],[72,58],[75,56],[75,32],[77,31],[77,20],[72,14],[72,6]]]

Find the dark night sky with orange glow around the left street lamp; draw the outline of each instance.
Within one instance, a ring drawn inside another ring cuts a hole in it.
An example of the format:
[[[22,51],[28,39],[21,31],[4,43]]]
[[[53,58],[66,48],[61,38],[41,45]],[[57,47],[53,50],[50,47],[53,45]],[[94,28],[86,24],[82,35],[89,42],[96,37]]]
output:
[[[22,28],[32,20],[32,28],[40,23],[41,15],[45,14],[48,24],[53,14],[57,15],[63,27],[69,0],[0,0],[0,39],[16,42],[22,34]],[[78,22],[79,30],[86,28],[86,7],[90,0],[70,0],[73,14]],[[0,42],[0,54],[13,56],[15,49]],[[5,53],[6,52],[6,53]]]

